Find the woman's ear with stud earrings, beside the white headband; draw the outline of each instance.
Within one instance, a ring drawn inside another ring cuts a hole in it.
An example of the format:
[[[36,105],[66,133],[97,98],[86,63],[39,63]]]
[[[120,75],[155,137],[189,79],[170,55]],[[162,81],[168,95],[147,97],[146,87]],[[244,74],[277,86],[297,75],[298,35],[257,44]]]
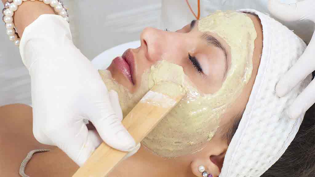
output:
[[[202,177],[202,171],[199,171],[199,167],[203,166],[204,171],[214,177],[219,176],[223,167],[227,147],[226,139],[221,138],[220,133],[217,132],[207,143],[207,146],[194,155],[191,163],[192,173],[195,176]]]

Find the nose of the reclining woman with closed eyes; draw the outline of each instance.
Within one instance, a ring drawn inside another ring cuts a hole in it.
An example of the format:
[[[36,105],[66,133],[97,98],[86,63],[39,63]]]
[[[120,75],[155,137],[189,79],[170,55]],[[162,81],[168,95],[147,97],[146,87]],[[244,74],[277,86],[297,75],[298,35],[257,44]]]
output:
[[[146,27],[140,36],[141,48],[144,50],[147,60],[162,60],[163,51],[167,43],[167,32],[151,27]]]

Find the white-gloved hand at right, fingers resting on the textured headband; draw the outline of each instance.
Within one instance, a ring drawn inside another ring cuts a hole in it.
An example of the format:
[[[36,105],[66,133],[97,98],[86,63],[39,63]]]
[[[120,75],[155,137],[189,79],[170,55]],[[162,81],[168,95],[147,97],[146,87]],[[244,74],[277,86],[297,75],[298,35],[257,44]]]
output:
[[[282,4],[269,0],[268,9],[275,17],[284,21],[311,20],[315,22],[315,1],[304,0],[293,4]],[[287,94],[297,83],[315,70],[315,33],[306,50],[294,66],[280,79],[276,87],[279,97]],[[315,81],[313,80],[287,109],[289,117],[297,118],[315,103]]]

